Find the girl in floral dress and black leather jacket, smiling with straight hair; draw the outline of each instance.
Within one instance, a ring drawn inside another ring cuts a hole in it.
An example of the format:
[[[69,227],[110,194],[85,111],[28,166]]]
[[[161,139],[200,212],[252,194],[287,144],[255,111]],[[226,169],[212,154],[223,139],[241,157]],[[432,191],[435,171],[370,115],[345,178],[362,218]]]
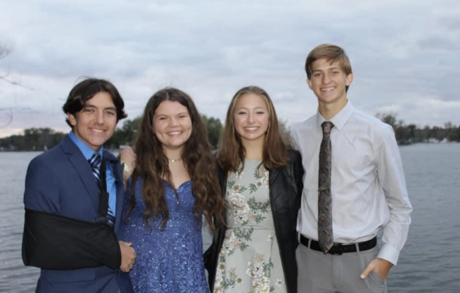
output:
[[[240,89],[228,108],[217,153],[226,227],[206,251],[213,292],[296,292],[300,154],[279,132],[268,94]]]

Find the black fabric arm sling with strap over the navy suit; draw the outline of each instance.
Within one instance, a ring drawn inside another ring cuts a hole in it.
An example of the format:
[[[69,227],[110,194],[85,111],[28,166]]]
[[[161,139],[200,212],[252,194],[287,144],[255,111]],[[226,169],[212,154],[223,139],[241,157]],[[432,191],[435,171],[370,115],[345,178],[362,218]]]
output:
[[[26,209],[22,261],[47,270],[84,267],[118,268],[121,252],[113,227],[107,225],[105,160],[101,163],[101,197],[95,222]]]

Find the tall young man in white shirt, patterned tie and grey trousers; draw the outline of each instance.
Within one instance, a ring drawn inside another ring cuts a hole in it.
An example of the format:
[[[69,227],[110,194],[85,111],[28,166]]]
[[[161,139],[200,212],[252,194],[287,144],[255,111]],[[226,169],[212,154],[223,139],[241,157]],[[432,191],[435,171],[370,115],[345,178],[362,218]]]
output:
[[[305,69],[318,111],[291,129],[305,168],[298,291],[386,292],[412,211],[393,128],[347,99],[353,73],[342,48],[315,47]]]

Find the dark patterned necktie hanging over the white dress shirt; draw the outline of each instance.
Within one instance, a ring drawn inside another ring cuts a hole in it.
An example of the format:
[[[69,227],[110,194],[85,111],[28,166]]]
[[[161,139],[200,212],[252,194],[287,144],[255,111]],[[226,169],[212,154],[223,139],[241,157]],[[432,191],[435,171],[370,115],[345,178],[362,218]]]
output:
[[[323,140],[319,149],[318,177],[318,242],[319,248],[325,254],[334,245],[332,236],[332,194],[331,194],[331,129],[332,122],[324,121]]]

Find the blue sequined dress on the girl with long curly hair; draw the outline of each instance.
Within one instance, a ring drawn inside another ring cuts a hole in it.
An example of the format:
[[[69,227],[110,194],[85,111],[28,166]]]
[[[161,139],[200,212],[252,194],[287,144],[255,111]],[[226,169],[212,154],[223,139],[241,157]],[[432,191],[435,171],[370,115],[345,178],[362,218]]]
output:
[[[209,292],[204,275],[201,217],[196,225],[192,182],[183,183],[175,196],[171,185],[163,181],[169,220],[164,231],[161,219],[150,219],[151,228],[144,222],[145,204],[141,196],[143,181],[135,186],[136,204],[128,222],[122,224],[123,240],[132,242],[137,258],[129,275],[134,291],[153,292]],[[131,181],[125,193],[123,218],[128,210]]]

